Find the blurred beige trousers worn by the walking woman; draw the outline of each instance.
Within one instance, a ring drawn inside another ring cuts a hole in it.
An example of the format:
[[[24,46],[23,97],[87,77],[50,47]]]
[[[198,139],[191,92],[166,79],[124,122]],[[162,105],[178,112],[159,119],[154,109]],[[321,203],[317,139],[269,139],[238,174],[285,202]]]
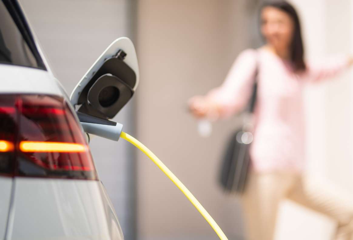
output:
[[[273,240],[279,203],[287,198],[337,221],[335,239],[351,240],[353,199],[288,172],[250,173],[241,196],[246,240]]]

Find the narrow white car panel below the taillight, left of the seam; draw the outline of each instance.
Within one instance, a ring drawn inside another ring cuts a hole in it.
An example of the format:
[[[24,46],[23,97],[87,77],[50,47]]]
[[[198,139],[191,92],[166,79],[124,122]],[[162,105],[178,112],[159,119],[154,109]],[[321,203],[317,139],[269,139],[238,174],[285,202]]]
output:
[[[11,199],[12,178],[0,177],[0,238],[5,235]]]

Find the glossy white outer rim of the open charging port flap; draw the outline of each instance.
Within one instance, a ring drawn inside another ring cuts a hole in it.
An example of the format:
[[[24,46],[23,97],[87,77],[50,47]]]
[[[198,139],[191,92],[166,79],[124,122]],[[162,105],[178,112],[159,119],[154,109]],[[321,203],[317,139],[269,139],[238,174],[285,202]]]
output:
[[[84,87],[89,82],[93,74],[103,65],[104,61],[107,58],[111,58],[112,56],[114,56],[119,49],[124,50],[124,52],[126,53],[124,62],[129,67],[131,67],[131,69],[136,74],[136,84],[133,87],[133,90],[136,90],[139,83],[140,74],[138,70],[138,62],[137,62],[135,47],[133,46],[133,43],[129,38],[120,37],[109,45],[109,47],[102,53],[102,55],[95,61],[95,63],[84,74],[82,79],[77,83],[76,87],[74,88],[70,96],[70,101],[73,106],[77,104],[80,92],[84,89]]]

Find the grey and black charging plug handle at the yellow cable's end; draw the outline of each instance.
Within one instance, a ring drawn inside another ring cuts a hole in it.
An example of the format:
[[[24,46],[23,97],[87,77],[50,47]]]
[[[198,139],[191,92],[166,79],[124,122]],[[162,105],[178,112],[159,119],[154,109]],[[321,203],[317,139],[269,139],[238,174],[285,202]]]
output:
[[[76,113],[84,132],[113,141],[119,140],[122,132],[122,124],[97,118],[85,113]]]

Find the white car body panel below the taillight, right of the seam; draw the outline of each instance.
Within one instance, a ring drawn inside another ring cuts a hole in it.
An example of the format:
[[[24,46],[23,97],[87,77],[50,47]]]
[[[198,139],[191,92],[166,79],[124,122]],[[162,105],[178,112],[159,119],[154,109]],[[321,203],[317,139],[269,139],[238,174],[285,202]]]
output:
[[[8,240],[122,240],[100,181],[15,178]]]

